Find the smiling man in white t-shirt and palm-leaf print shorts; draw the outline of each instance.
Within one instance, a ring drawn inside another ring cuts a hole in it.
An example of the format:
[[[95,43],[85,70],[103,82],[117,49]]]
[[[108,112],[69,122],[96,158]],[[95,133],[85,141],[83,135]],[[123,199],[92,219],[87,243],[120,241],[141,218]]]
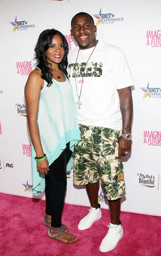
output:
[[[77,106],[82,141],[75,144],[75,185],[86,185],[91,203],[79,230],[101,218],[99,181],[108,199],[111,223],[100,245],[110,251],[123,236],[120,198],[125,195],[121,156],[131,149],[133,80],[123,52],[96,39],[92,16],[78,13],[71,20],[71,36],[78,47],[68,55],[68,74]]]

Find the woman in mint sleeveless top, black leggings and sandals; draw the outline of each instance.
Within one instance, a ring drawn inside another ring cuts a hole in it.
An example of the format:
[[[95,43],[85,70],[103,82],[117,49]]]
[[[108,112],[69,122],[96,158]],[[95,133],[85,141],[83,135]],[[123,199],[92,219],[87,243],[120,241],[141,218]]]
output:
[[[43,31],[35,47],[37,68],[25,86],[28,126],[32,140],[33,194],[45,190],[43,224],[48,236],[71,244],[77,238],[61,224],[66,191],[66,164],[81,139],[72,88],[67,78],[68,44],[55,29]]]

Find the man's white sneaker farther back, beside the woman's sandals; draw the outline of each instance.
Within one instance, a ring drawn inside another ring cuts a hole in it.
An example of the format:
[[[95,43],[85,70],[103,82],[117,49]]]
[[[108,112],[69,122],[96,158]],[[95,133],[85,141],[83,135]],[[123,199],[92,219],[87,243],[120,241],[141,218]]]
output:
[[[102,217],[102,212],[101,212],[101,208],[94,208],[91,207],[91,209],[89,209],[89,214],[87,216],[85,216],[78,224],[77,228],[79,230],[85,230],[88,229],[92,226],[92,224],[95,221],[98,221],[99,219],[101,219]]]

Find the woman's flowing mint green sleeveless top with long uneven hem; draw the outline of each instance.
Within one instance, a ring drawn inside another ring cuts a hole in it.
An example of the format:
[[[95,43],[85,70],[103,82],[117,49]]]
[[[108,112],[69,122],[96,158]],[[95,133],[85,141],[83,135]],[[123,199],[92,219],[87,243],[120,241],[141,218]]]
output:
[[[74,144],[81,140],[71,84],[67,78],[65,82],[55,79],[52,82],[47,87],[44,80],[37,118],[41,144],[49,166],[66,148],[66,143],[69,142],[70,150],[73,151]],[[32,145],[33,195],[39,195],[45,190],[45,176],[37,172],[35,156]],[[71,158],[67,164],[67,172],[72,165]]]

